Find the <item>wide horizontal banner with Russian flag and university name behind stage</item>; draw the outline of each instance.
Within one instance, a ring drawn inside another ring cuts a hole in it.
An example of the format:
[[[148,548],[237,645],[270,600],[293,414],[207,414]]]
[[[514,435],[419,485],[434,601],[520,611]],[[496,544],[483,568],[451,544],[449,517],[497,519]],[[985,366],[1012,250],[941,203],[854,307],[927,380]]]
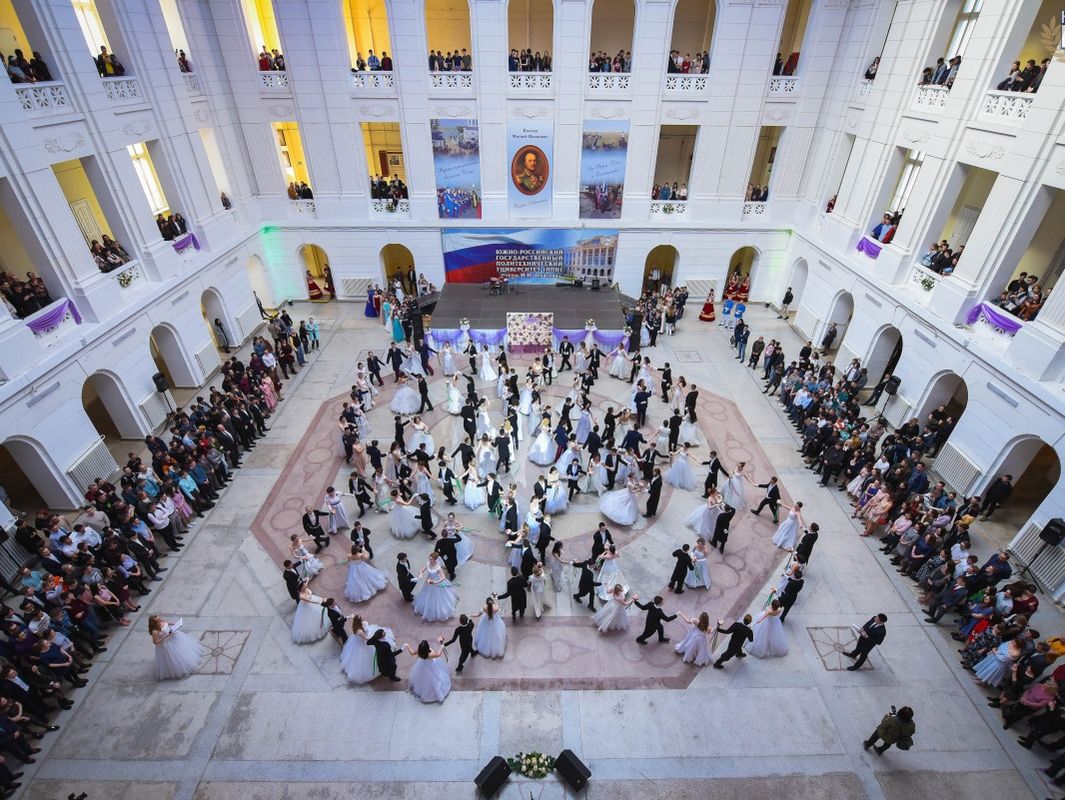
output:
[[[613,281],[618,231],[583,228],[445,228],[448,283],[508,278],[526,283],[599,278]]]

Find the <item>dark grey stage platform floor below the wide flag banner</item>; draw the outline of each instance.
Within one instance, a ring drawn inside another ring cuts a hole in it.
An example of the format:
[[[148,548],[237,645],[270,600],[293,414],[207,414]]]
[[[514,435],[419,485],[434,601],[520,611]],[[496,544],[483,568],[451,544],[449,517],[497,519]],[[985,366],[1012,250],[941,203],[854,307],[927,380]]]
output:
[[[464,316],[474,328],[502,328],[508,312],[553,311],[556,328],[583,328],[592,317],[604,330],[621,330],[625,327],[621,298],[609,289],[593,292],[525,284],[511,285],[508,294],[490,295],[480,283],[447,283],[432,311],[432,327],[457,328]]]

